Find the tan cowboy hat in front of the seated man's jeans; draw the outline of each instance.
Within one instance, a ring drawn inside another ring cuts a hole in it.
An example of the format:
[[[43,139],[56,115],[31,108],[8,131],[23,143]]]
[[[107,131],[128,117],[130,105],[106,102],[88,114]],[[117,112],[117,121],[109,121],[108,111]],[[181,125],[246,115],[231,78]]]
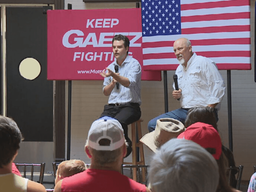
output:
[[[155,129],[145,134],[140,141],[153,152],[167,142],[169,139],[177,137],[185,130],[184,125],[174,118],[159,118],[156,121]]]

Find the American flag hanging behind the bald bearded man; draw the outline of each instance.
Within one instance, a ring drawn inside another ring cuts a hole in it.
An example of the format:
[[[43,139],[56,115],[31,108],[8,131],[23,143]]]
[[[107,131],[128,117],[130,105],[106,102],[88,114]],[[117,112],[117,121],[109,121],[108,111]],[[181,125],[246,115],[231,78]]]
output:
[[[145,70],[175,70],[180,37],[218,69],[251,69],[250,0],[141,0],[141,17]]]

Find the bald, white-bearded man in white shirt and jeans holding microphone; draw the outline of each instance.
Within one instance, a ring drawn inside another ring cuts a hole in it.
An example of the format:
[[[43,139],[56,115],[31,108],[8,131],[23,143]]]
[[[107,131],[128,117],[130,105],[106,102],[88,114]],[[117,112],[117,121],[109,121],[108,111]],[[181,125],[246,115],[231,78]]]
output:
[[[155,128],[159,118],[174,118],[184,123],[187,111],[192,107],[209,106],[217,110],[225,93],[225,84],[214,61],[192,52],[191,42],[179,38],[173,43],[173,51],[179,65],[175,71],[178,90],[172,91],[172,97],[179,99],[181,108],[161,114],[148,122],[148,130]]]

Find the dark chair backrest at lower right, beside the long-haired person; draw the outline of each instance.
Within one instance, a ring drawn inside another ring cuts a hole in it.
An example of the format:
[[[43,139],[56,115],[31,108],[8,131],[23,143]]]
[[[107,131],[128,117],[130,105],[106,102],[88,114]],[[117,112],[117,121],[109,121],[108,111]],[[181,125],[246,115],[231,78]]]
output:
[[[241,183],[242,169],[243,169],[243,165],[230,166],[229,168],[227,168],[227,170],[228,170],[228,182],[232,186],[232,179],[235,179],[235,181],[236,181],[235,188],[238,189],[238,190],[240,188],[240,183]]]

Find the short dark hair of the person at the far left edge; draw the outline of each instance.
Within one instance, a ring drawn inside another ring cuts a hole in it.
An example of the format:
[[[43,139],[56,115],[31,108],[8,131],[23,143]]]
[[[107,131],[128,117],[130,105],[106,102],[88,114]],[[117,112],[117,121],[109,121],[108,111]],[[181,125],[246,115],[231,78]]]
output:
[[[0,168],[12,160],[21,140],[22,135],[16,122],[0,115]]]

